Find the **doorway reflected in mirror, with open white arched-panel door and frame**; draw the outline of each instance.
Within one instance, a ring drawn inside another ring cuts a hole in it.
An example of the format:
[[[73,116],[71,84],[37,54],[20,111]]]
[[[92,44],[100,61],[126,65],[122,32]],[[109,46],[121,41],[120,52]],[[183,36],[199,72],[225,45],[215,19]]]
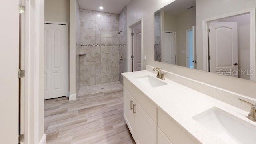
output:
[[[203,21],[204,70],[256,80],[255,10]]]

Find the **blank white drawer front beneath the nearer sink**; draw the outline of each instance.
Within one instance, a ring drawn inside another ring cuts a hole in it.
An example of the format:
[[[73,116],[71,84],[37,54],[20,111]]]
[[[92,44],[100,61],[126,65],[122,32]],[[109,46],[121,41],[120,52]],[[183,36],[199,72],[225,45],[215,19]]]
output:
[[[162,110],[158,110],[158,127],[172,144],[197,144],[184,130],[174,123]]]

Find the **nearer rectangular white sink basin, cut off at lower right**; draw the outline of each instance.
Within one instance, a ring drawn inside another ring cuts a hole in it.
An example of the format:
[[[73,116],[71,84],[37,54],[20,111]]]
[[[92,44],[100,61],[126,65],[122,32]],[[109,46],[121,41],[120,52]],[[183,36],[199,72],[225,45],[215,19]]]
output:
[[[227,144],[256,144],[256,126],[219,108],[206,110],[193,119]]]

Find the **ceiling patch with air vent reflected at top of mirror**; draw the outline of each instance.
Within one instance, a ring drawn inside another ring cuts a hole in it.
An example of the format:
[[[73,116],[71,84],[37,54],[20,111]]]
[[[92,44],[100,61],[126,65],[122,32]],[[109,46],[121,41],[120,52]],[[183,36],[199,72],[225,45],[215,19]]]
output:
[[[180,14],[184,14],[188,12],[187,9],[190,6],[196,7],[196,0],[175,0],[174,2],[168,4],[161,10],[164,10],[164,12],[167,12],[169,14],[172,14],[174,16],[178,16]],[[194,9],[191,8],[190,10]]]

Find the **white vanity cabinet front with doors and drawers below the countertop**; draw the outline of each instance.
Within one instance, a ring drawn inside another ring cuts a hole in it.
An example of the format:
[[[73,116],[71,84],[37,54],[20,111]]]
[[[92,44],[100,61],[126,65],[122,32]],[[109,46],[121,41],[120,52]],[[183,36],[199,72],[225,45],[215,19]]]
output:
[[[126,78],[124,119],[136,144],[195,144],[178,124]]]

